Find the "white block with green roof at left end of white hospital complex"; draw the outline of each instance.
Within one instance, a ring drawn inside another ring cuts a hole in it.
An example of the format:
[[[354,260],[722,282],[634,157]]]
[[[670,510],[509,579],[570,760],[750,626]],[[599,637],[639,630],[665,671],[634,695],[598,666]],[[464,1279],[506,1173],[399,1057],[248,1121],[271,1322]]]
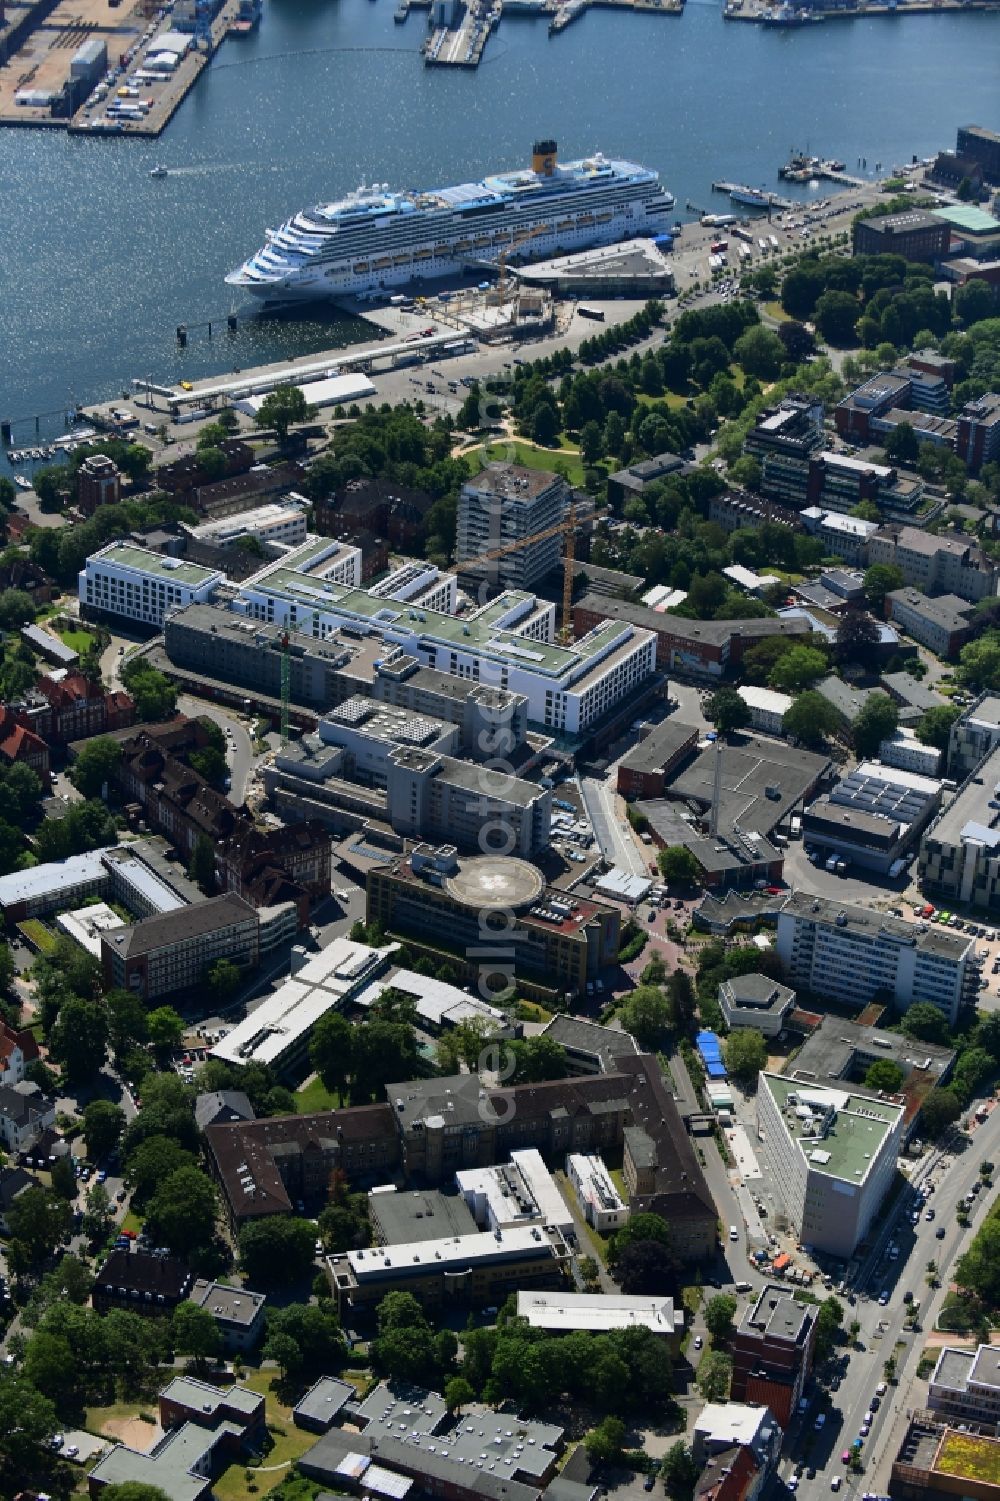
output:
[[[225,584],[219,569],[164,557],[132,542],[111,542],[80,572],[80,603],[92,614],[159,627],[174,609],[209,600]]]

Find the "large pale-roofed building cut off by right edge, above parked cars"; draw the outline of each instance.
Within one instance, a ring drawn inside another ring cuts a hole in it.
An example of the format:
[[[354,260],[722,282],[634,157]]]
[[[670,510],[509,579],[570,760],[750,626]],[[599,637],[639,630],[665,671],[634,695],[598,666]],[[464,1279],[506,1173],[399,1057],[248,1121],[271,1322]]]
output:
[[[917,869],[920,889],[938,902],[1000,908],[1000,735],[926,829]]]

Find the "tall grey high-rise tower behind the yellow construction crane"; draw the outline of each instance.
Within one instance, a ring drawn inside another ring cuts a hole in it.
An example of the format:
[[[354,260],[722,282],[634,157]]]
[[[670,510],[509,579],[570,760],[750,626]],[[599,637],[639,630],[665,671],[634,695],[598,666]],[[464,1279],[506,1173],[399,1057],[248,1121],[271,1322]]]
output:
[[[483,566],[491,584],[532,588],[559,567],[563,539],[559,533],[536,542],[526,539],[557,527],[569,510],[569,485],[559,474],[520,464],[486,464],[461,488],[455,557],[464,561],[524,542]]]

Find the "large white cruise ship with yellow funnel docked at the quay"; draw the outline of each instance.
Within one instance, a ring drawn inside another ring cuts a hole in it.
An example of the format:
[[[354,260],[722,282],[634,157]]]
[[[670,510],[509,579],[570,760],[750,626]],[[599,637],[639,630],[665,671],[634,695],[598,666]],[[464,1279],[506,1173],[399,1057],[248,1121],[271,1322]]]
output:
[[[559,162],[536,141],[532,167],[428,192],[359,188],[303,209],[225,278],[266,302],[365,296],[453,276],[508,251],[532,260],[668,228],[673,194],[655,171],[599,152]]]

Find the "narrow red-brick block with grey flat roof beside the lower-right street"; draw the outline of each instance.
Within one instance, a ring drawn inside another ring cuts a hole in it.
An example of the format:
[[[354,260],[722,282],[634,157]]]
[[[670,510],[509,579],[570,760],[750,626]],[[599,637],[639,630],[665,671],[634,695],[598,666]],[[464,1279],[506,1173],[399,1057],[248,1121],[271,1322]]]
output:
[[[764,1285],[731,1342],[734,1402],[760,1402],[788,1427],[812,1372],[815,1309],[790,1288]]]

